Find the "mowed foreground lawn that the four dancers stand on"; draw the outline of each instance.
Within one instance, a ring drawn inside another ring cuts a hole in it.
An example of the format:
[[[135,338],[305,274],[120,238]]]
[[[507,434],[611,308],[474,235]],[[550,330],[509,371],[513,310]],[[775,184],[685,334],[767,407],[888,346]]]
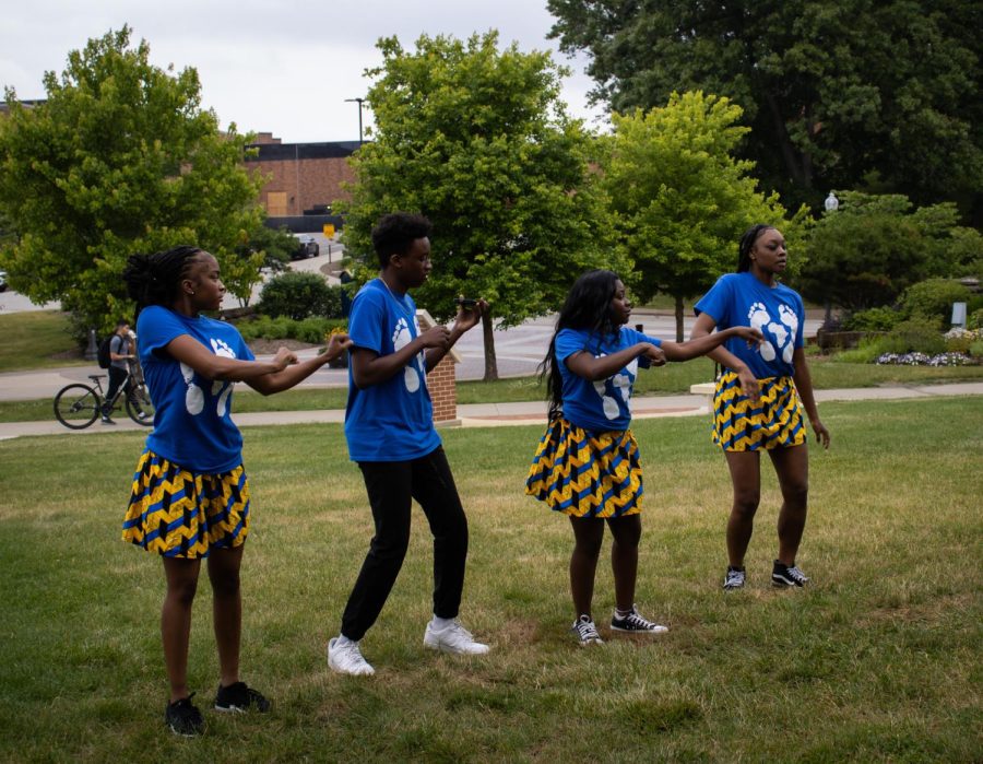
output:
[[[983,402],[829,403],[800,564],[774,591],[770,466],[747,560],[724,595],[730,481],[703,418],[636,423],[647,499],[640,610],[671,631],[611,635],[605,541],[594,614],[568,633],[571,534],[522,493],[535,426],[443,431],[471,522],[464,623],[493,651],[425,650],[430,546],[363,643],[374,678],[330,672],[328,637],[371,536],[340,427],[246,428],[254,525],[242,675],[268,716],[209,710],[206,578],[190,677],[206,734],[163,726],[159,561],[119,541],[143,434],[0,443],[3,761],[981,761]]]

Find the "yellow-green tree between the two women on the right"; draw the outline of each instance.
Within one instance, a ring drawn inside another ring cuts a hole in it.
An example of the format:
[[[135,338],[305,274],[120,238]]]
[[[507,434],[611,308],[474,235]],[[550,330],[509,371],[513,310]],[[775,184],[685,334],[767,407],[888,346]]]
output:
[[[663,108],[613,116],[602,162],[613,226],[635,262],[630,279],[638,296],[675,297],[677,341],[683,301],[734,270],[737,240],[748,226],[770,223],[794,239],[805,215],[803,210],[785,221],[778,197],[766,198],[748,176],[753,163],[731,155],[747,132],[737,126],[739,117],[729,99],[702,93],[673,93]]]

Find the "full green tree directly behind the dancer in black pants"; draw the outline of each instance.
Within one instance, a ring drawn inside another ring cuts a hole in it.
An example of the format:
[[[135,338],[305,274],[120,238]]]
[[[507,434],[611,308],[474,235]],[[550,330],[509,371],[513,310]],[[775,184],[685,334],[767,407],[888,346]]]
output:
[[[493,320],[555,310],[573,277],[606,255],[593,227],[592,141],[559,101],[565,70],[514,44],[499,52],[497,42],[496,32],[466,43],[422,36],[415,52],[379,42],[383,62],[367,72],[378,78],[368,93],[376,130],[354,156],[344,204],[345,246],[369,271],[380,215],[430,219],[436,267],[418,302],[443,319],[455,295],[488,299],[485,379],[498,376]]]

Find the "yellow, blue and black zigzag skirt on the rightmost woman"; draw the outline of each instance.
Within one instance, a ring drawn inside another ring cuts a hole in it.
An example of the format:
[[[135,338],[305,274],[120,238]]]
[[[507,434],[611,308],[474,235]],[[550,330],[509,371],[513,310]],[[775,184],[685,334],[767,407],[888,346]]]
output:
[[[713,392],[713,443],[725,451],[801,446],[806,431],[802,402],[791,377],[758,380],[761,397],[757,403],[741,392],[734,372],[716,378]]]

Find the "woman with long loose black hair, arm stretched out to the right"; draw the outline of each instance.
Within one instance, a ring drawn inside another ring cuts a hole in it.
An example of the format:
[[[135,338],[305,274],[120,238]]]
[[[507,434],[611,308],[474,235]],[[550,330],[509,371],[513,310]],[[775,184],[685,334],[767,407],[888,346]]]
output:
[[[614,538],[612,630],[668,631],[643,618],[635,606],[644,489],[638,444],[628,428],[628,401],[639,367],[688,361],[725,340],[755,343],[761,339],[757,329],[738,327],[689,342],[663,342],[627,328],[630,316],[631,303],[617,274],[584,273],[567,295],[541,367],[548,378],[549,423],[530,467],[525,492],[570,518],[572,631],[581,645],[603,642],[591,601],[605,521]]]

